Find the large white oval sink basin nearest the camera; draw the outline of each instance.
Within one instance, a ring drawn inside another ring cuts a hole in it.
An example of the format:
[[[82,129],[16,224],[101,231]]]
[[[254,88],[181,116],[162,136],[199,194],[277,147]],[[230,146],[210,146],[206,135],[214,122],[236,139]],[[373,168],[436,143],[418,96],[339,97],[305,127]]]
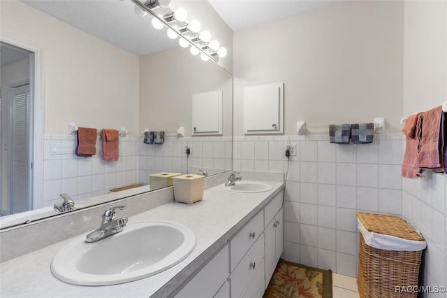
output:
[[[54,257],[51,271],[75,285],[115,285],[178,264],[196,246],[188,227],[167,221],[129,222],[123,232],[94,243],[79,236]]]

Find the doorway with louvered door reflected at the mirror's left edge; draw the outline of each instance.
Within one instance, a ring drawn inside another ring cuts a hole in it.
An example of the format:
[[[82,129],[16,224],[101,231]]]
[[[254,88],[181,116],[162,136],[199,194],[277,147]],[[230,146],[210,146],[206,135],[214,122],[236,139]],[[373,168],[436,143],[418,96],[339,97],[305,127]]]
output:
[[[34,53],[0,42],[0,62],[0,214],[8,215],[33,208]]]

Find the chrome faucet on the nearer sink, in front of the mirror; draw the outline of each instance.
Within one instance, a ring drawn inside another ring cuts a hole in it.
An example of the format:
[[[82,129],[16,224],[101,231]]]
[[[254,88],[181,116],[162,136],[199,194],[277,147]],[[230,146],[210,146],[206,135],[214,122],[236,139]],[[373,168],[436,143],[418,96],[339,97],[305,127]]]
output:
[[[115,220],[115,212],[117,209],[123,210],[124,206],[116,206],[104,211],[101,216],[103,218],[101,227],[98,227],[98,229],[95,229],[93,232],[85,236],[85,242],[99,241],[105,237],[121,232],[123,227],[126,227],[128,221],[127,218],[119,218]]]

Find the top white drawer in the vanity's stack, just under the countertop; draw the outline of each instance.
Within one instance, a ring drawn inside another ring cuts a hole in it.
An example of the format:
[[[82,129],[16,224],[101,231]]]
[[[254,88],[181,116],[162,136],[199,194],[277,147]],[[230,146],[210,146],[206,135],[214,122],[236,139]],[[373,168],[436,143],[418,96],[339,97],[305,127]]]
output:
[[[263,230],[264,213],[261,211],[230,240],[230,271],[235,269],[256,239],[261,236]]]

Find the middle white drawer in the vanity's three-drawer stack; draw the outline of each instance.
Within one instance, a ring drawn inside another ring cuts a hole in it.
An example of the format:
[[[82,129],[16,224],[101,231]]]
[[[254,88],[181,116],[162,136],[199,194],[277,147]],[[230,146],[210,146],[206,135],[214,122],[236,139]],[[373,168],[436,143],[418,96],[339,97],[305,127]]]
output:
[[[262,270],[264,276],[264,234],[256,240],[254,246],[249,250],[249,253],[237,265],[237,268],[230,276],[231,283],[231,297],[242,297],[242,293],[254,278],[258,270]],[[261,289],[264,290],[263,283]]]

